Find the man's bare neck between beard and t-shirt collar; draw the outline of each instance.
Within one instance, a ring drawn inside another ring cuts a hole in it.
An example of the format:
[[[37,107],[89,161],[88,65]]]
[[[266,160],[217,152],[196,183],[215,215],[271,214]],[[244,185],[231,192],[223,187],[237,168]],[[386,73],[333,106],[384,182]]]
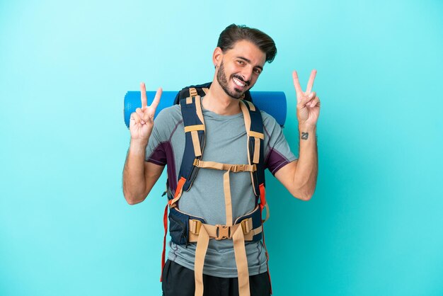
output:
[[[228,96],[219,84],[212,82],[211,88],[203,98],[203,108],[219,115],[234,115],[241,112],[238,99]]]

